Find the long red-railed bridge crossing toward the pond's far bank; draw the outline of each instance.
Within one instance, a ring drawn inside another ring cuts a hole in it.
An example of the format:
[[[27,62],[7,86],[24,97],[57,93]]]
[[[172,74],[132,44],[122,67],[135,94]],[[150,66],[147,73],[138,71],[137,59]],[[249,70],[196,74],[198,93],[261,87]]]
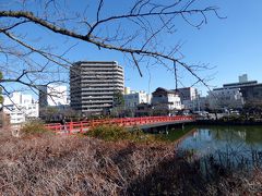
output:
[[[176,115],[176,117],[141,117],[141,118],[118,118],[118,119],[103,119],[88,120],[80,122],[68,122],[64,125],[60,123],[46,124],[46,127],[55,133],[84,133],[90,128],[104,124],[116,124],[124,127],[138,126],[140,128],[150,128],[157,126],[165,126],[169,124],[182,124],[194,122],[194,117],[191,115]]]

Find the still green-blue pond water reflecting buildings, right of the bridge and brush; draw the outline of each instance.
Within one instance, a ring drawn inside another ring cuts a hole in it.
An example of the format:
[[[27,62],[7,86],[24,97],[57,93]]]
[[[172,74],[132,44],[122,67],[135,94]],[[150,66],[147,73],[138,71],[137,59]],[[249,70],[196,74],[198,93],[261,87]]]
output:
[[[165,136],[199,157],[233,164],[262,164],[262,126],[186,126]]]

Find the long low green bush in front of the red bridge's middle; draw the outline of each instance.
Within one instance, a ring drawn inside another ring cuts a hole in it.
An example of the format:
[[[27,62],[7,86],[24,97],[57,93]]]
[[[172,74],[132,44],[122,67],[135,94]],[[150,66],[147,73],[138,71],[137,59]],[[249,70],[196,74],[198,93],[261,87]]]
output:
[[[145,134],[139,128],[132,131],[118,125],[100,125],[90,130],[85,135],[104,140],[131,140],[131,142],[160,142],[162,138]]]

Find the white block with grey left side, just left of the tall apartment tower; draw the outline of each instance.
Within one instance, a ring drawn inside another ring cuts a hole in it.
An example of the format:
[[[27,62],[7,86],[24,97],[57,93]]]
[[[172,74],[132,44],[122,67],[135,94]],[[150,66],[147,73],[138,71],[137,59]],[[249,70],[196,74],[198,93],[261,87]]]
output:
[[[39,86],[39,105],[41,108],[69,105],[68,87],[60,84]]]

